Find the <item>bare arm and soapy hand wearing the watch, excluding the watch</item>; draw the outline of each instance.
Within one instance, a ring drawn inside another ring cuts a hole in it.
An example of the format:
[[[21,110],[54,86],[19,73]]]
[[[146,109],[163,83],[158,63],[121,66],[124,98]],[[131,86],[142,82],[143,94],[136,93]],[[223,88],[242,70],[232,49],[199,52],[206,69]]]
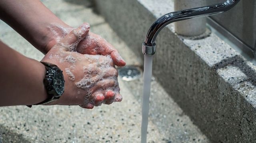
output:
[[[88,24],[82,24],[43,58],[43,62],[56,64],[64,70],[66,81],[63,95],[49,105],[93,108],[122,100],[117,70],[110,56],[72,51],[88,32]],[[43,83],[46,70],[40,62],[26,58],[0,42],[0,67],[0,106],[32,105],[48,97]]]

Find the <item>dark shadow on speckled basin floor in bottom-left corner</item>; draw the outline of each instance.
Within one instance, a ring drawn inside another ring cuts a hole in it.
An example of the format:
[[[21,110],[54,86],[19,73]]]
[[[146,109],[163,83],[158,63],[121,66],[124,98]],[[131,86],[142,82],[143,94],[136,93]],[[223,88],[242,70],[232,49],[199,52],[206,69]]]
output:
[[[1,142],[2,139],[2,142]],[[22,136],[0,125],[0,143],[32,143]]]

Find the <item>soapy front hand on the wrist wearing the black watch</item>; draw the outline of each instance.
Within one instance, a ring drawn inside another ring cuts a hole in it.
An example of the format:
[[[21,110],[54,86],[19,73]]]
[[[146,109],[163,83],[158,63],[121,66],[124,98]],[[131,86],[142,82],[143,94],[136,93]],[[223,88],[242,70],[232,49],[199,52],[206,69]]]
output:
[[[60,40],[43,58],[56,64],[65,79],[64,93],[50,105],[80,105],[93,108],[102,103],[121,101],[118,72],[110,55],[91,55],[76,52],[81,40],[88,36],[90,26],[82,24]],[[111,53],[110,53],[111,54]]]

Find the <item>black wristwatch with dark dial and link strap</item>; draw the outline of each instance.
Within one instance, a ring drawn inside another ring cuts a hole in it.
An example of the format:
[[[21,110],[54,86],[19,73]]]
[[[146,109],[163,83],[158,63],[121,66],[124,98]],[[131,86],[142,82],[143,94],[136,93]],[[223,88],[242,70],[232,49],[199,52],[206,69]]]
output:
[[[46,89],[48,98],[40,103],[34,105],[45,105],[56,101],[60,98],[60,96],[64,93],[64,76],[63,71],[58,68],[58,66],[54,64],[50,64],[47,62],[41,62],[44,64],[46,69],[46,74],[44,78],[44,87]],[[28,107],[32,107],[32,105],[27,105]]]

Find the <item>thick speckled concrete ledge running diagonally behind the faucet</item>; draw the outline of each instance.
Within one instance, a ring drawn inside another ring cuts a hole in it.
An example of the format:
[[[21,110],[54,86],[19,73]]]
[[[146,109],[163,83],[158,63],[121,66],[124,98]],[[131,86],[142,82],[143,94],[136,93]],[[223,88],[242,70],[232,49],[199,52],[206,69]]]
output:
[[[96,0],[96,8],[143,58],[148,28],[174,6],[172,0]],[[156,42],[154,76],[201,131],[213,142],[255,142],[256,67],[215,34],[188,40],[169,25]]]

